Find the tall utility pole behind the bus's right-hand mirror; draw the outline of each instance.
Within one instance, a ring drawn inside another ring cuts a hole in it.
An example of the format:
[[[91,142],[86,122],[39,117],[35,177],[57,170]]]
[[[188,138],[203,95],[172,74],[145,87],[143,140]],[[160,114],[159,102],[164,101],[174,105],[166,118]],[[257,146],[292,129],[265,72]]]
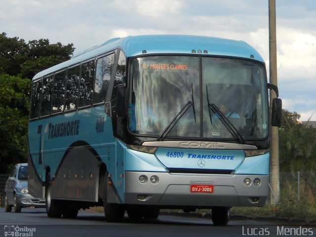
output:
[[[269,0],[269,68],[270,83],[277,86],[277,67],[276,67],[276,0]],[[276,98],[274,90],[270,91],[270,105]],[[272,107],[272,106],[270,106]],[[280,199],[279,183],[279,150],[278,150],[278,127],[271,126],[271,186],[273,195],[271,204],[275,205]]]

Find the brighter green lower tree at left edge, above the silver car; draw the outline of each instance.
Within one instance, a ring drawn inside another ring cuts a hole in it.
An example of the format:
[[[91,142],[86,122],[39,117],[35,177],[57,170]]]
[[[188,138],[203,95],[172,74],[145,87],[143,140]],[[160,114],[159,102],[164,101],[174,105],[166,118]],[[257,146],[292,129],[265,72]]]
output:
[[[0,173],[27,162],[29,79],[0,74]]]

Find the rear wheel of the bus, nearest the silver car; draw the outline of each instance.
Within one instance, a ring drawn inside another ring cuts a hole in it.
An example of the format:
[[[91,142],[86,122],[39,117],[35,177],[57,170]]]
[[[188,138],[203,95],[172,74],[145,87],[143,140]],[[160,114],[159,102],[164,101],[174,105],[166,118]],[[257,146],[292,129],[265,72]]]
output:
[[[48,217],[58,218],[61,217],[62,208],[60,202],[52,198],[51,194],[51,184],[50,184],[50,173],[46,177],[46,213]]]

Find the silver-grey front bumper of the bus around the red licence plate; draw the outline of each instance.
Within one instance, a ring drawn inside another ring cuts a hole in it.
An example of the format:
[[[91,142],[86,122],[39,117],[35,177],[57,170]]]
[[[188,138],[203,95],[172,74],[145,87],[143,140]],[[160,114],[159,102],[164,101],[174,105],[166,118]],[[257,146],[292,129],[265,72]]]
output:
[[[156,176],[156,183],[151,181],[152,176]],[[196,207],[264,206],[269,193],[269,175],[125,171],[124,177],[126,204]],[[140,182],[144,179],[144,182]],[[250,184],[249,180],[248,183],[245,182],[246,179],[250,179]],[[259,185],[254,184],[255,179],[260,180]],[[191,192],[191,184],[212,185],[213,192]]]

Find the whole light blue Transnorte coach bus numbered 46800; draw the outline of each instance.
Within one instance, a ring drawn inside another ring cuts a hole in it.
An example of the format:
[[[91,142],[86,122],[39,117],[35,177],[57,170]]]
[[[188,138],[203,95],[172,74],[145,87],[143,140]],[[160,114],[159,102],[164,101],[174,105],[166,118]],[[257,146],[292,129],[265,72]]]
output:
[[[200,36],[109,40],[32,81],[29,192],[49,217],[104,206],[107,221],[160,208],[212,209],[268,198],[265,63],[243,41]]]

